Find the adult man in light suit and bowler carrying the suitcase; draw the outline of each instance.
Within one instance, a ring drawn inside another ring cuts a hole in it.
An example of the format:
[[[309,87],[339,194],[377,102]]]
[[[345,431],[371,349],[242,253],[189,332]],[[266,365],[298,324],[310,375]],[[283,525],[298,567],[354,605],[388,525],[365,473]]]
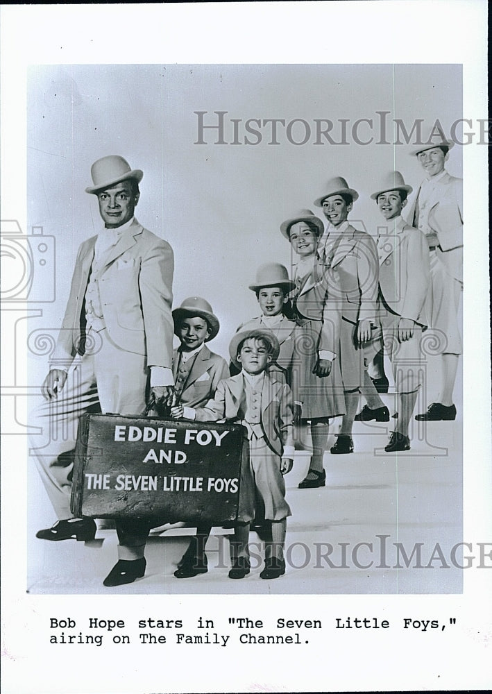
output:
[[[37,537],[92,539],[90,518],[70,509],[71,469],[78,418],[87,409],[142,415],[146,399],[169,406],[173,396],[171,316],[173,252],[135,219],[143,173],[111,155],[92,165],[94,194],[104,226],[78,250],[74,275],[37,416],[51,427],[35,449],[37,465],[58,516]],[[62,435],[63,434],[63,435]],[[37,441],[36,441],[37,443]],[[117,523],[119,559],[105,585],[144,575],[149,528]]]

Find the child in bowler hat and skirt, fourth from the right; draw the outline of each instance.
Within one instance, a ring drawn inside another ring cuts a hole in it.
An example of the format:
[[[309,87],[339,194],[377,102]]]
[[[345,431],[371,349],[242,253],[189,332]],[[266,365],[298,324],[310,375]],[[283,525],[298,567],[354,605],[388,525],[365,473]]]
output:
[[[323,455],[328,441],[330,417],[345,413],[341,382],[341,303],[333,291],[330,267],[318,253],[323,222],[311,210],[300,210],[280,226],[297,255],[293,304],[301,328],[297,351],[300,355],[297,399],[302,403],[302,419],[309,421],[313,453],[309,471],[300,489],[325,486]]]

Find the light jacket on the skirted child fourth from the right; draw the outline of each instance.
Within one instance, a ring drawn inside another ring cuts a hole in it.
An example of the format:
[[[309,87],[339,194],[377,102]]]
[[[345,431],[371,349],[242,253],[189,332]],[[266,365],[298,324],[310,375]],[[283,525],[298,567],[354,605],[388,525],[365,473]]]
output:
[[[330,265],[321,258],[316,258],[312,272],[303,278],[294,303],[301,317],[322,321],[316,349],[337,354],[340,341],[341,293]]]

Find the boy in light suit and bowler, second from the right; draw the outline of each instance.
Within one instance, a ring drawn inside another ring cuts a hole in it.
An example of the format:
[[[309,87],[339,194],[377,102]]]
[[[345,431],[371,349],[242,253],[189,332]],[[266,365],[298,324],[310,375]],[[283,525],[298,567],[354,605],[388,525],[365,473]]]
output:
[[[421,336],[427,327],[424,303],[430,282],[429,254],[425,236],[401,217],[412,187],[399,171],[391,171],[371,195],[384,219],[387,233],[378,237],[379,320],[382,341],[388,350],[398,393],[398,421],[391,433],[387,452],[408,450],[408,426],[421,386]],[[364,395],[368,405],[359,414],[369,421],[384,407],[366,373]]]

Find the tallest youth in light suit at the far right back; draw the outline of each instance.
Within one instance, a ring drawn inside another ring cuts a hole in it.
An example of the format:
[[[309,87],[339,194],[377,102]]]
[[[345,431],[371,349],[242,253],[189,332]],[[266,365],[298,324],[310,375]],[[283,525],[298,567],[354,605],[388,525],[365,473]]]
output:
[[[426,310],[439,339],[442,382],[437,402],[416,419],[453,420],[452,393],[462,351],[457,314],[463,289],[463,181],[444,168],[455,143],[446,139],[437,124],[421,142],[412,155],[426,178],[409,204],[407,221],[425,234],[429,246],[431,283]]]

